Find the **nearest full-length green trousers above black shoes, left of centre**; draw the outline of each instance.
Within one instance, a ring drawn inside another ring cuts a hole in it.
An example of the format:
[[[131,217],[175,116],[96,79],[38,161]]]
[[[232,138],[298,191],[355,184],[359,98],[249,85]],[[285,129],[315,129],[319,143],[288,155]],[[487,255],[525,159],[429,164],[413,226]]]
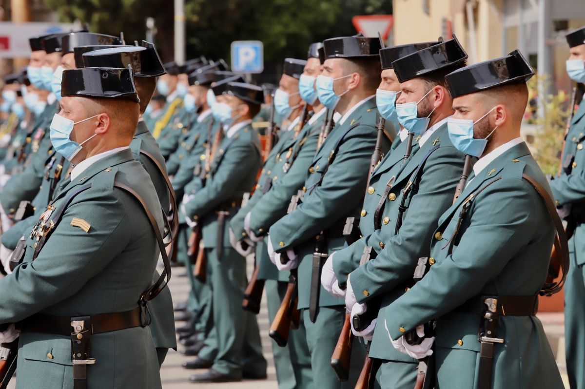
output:
[[[214,248],[205,249],[208,280],[211,281],[214,328],[218,354],[212,369],[233,378],[266,374],[260,329],[256,315],[242,309],[247,285],[246,260],[230,247],[223,247],[221,259]]]

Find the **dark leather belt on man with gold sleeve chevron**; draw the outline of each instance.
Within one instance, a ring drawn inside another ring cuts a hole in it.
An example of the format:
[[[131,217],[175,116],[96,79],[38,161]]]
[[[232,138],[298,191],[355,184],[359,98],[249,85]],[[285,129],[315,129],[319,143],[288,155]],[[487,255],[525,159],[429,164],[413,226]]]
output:
[[[130,311],[116,312],[115,314],[99,314],[85,317],[89,318],[89,330],[92,334],[119,331],[141,325],[140,307]],[[21,321],[19,325],[21,332],[32,331],[70,336],[71,332],[73,332],[71,320],[70,316],[35,314]]]

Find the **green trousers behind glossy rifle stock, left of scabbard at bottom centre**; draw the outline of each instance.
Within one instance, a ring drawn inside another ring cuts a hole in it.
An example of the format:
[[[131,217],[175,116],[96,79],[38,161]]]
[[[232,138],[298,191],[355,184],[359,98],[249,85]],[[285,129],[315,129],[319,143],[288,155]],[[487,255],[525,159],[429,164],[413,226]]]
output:
[[[266,280],[266,302],[268,305],[269,322],[274,321],[274,316],[280,308],[287,291],[288,283],[285,281]],[[288,333],[288,343],[280,347],[272,341],[272,354],[276,367],[278,389],[313,388],[313,373],[311,370],[311,353],[307,345],[307,331],[301,321],[298,329],[291,329]]]

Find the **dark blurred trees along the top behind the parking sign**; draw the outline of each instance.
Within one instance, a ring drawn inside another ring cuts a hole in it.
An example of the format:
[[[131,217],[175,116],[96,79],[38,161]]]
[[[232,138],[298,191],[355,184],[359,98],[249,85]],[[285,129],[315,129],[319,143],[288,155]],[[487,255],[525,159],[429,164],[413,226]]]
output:
[[[173,1],[44,0],[61,22],[89,23],[94,32],[128,42],[144,39],[145,20],[156,20],[156,43],[165,61],[173,59]],[[392,13],[392,0],[185,0],[187,58],[204,55],[229,61],[233,40],[261,40],[264,61],[305,58],[310,43],[354,35],[354,15]]]

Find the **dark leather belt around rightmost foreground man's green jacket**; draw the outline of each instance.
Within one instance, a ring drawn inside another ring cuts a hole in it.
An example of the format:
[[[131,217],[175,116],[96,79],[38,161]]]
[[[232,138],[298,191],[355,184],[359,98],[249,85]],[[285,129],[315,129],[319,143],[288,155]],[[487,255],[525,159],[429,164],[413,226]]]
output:
[[[498,315],[531,316],[538,311],[538,296],[476,296],[455,308],[455,311],[483,315],[486,311],[485,301],[489,298],[498,301],[495,308]]]

